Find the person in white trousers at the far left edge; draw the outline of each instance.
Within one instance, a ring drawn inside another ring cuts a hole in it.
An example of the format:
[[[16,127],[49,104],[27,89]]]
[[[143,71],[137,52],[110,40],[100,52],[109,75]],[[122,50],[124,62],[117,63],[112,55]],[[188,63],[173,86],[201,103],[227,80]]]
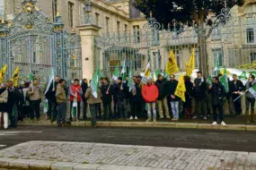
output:
[[[6,83],[7,84],[7,83]],[[2,120],[2,115],[4,116],[4,129],[8,128],[8,89],[4,87],[4,84],[1,84],[0,87],[0,124]]]

